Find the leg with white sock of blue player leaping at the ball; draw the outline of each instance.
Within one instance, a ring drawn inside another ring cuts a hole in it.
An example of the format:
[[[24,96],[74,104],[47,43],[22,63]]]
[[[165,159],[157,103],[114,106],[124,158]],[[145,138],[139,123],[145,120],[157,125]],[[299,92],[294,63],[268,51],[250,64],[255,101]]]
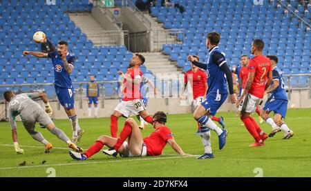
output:
[[[70,108],[69,110],[67,108],[64,108],[68,116],[70,116],[71,119],[71,127],[73,129],[73,143],[77,144],[81,137],[82,134],[84,133],[84,130],[82,130],[79,126],[78,119],[77,119],[77,114],[75,112],[75,108]]]

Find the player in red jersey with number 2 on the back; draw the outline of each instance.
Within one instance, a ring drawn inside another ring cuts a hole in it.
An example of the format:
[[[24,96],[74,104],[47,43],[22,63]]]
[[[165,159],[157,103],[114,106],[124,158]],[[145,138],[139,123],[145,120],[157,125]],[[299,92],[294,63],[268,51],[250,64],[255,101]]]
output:
[[[254,39],[252,42],[252,54],[254,58],[248,63],[248,78],[241,97],[236,106],[241,110],[241,120],[248,132],[252,134],[255,143],[250,146],[263,146],[267,134],[261,130],[256,121],[249,115],[254,112],[256,103],[263,99],[265,89],[272,82],[272,64],[270,59],[263,55],[264,43],[261,39]]]

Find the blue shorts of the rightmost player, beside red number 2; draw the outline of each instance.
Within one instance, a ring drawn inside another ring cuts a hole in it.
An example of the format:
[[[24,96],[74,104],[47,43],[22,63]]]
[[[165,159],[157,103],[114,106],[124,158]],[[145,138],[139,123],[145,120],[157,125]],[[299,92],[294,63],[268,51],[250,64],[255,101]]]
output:
[[[284,99],[268,99],[263,110],[281,114],[283,119],[285,119],[286,112],[288,112],[288,101]]]

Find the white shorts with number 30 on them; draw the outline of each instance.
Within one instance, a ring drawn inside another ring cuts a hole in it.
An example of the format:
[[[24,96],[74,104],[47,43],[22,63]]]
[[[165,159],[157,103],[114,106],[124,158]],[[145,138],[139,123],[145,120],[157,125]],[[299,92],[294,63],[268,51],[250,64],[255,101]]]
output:
[[[146,108],[144,108],[144,103],[142,103],[140,99],[121,101],[117,104],[117,107],[115,107],[115,111],[120,112],[124,117],[129,117],[130,114],[138,115],[139,112],[143,110],[146,110]]]

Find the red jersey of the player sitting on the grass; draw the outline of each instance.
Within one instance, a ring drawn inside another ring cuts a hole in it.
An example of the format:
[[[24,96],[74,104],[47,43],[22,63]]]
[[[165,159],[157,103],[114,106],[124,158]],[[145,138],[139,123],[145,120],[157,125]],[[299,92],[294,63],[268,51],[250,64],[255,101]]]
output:
[[[156,128],[154,132],[151,132],[148,137],[144,138],[147,154],[149,156],[162,154],[165,145],[167,145],[167,139],[174,139],[171,130],[166,126]]]

